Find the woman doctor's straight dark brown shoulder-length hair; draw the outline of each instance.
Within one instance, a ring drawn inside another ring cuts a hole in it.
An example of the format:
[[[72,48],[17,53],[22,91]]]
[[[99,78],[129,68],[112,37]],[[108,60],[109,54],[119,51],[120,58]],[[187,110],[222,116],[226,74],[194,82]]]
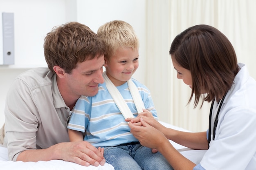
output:
[[[171,57],[192,76],[191,102],[194,108],[203,101],[219,101],[231,88],[238,73],[235,50],[218,29],[209,25],[192,26],[175,37],[169,51]],[[202,107],[202,105],[201,105]]]

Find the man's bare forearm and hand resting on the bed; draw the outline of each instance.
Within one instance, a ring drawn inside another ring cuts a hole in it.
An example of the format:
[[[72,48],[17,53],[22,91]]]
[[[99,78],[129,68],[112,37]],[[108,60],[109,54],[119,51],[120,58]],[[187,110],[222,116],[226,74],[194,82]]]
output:
[[[47,149],[25,150],[18,155],[17,161],[49,161],[61,159],[75,162],[83,166],[103,166],[104,149],[95,148],[87,141],[63,142]]]

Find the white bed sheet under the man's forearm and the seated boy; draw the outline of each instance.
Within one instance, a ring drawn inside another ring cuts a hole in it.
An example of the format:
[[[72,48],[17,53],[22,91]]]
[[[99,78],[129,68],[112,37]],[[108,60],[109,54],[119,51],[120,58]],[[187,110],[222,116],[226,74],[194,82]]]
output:
[[[181,131],[188,131],[171,124],[167,124],[161,121],[161,123],[168,127]],[[190,159],[195,164],[200,163],[205,150],[191,150],[173,141],[170,141],[173,146],[184,155],[184,157]],[[22,162],[22,161],[8,161],[7,148],[0,146],[0,170],[114,170],[113,166],[105,163],[104,166],[81,166],[73,162],[67,162],[63,160],[52,161],[38,161],[38,162]]]

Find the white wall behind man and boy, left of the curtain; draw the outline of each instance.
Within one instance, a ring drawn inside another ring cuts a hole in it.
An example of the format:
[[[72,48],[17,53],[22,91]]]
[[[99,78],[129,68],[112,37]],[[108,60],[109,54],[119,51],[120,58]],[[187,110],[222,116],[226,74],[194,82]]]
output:
[[[135,78],[144,83],[146,0],[0,0],[2,12],[14,13],[15,64],[0,65],[0,126],[4,123],[4,104],[13,79],[23,71],[46,66],[43,43],[56,25],[78,21],[97,32],[111,20],[131,24],[140,39],[140,66]],[[2,55],[2,16],[0,16],[0,55]]]

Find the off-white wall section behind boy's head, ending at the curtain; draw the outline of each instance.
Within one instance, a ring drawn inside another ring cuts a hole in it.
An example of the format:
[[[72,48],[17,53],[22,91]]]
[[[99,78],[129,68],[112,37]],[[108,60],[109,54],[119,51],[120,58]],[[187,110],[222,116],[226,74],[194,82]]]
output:
[[[139,37],[139,68],[134,78],[145,83],[146,0],[77,0],[77,21],[95,33],[111,20],[124,20],[132,25]]]

